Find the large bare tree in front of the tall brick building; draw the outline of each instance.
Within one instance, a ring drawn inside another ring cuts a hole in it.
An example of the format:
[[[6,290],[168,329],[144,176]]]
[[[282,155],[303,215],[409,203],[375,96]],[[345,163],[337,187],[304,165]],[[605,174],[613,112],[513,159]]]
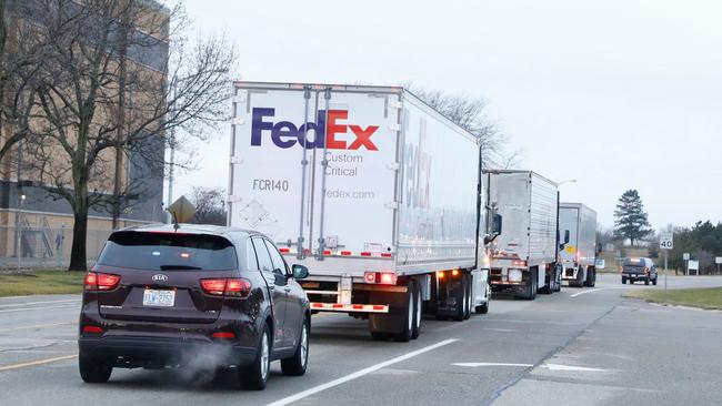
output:
[[[171,132],[204,138],[228,120],[235,57],[223,38],[183,37],[181,6],[31,1],[42,9],[36,18],[50,44],[32,114],[33,136],[41,136],[31,143],[34,170],[72,207],[70,268],[84,270],[89,210],[117,214],[142,199],[149,180],[162,182]],[[131,181],[126,168],[142,173]]]

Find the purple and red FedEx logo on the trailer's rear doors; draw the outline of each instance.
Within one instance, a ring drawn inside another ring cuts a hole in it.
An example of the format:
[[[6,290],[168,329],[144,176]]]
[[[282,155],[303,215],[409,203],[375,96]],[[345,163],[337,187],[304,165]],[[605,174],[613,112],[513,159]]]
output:
[[[295,126],[290,121],[274,123],[273,120],[265,120],[273,116],[275,116],[275,109],[253,109],[251,145],[260,146],[263,131],[267,131],[271,134],[271,141],[282,149],[291,148],[298,143],[299,145],[305,145],[309,150],[323,148],[325,144],[329,150],[360,150],[364,148],[368,151],[379,151],[371,141],[371,135],[379,130],[379,125],[369,125],[364,129],[361,125],[347,124],[345,121],[349,119],[348,110],[329,110],[328,124],[324,110],[319,111],[315,123],[309,122],[308,124],[301,124],[301,126]],[[315,134],[313,140],[309,140],[311,131]]]

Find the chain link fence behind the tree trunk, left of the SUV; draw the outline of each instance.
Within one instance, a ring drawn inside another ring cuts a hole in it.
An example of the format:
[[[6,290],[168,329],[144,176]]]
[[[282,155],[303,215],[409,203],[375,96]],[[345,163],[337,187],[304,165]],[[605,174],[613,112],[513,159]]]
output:
[[[110,230],[88,230],[88,263],[98,258]],[[0,225],[0,268],[68,267],[72,227],[43,225]]]

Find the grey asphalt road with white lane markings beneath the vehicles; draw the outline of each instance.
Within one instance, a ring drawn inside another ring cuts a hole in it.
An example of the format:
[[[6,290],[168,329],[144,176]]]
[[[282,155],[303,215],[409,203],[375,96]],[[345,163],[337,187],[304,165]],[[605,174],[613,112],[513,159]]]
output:
[[[662,278],[660,278],[662,281]],[[670,277],[670,287],[722,277]],[[345,315],[313,318],[309,371],[264,392],[232,374],[114,369],[104,385],[77,371],[77,295],[0,298],[3,405],[719,405],[722,312],[621,297],[619,275],[534,302],[495,297],[468,322],[424,319],[411,343],[370,339]]]

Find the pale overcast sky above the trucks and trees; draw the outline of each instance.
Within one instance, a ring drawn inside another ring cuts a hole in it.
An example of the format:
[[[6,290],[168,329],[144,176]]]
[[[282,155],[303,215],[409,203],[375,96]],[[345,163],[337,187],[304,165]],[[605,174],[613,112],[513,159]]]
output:
[[[188,0],[243,80],[414,84],[489,101],[523,169],[595,209],[636,189],[658,229],[722,220],[722,2]],[[230,124],[178,179],[228,185]],[[177,195],[178,195],[177,193]]]

